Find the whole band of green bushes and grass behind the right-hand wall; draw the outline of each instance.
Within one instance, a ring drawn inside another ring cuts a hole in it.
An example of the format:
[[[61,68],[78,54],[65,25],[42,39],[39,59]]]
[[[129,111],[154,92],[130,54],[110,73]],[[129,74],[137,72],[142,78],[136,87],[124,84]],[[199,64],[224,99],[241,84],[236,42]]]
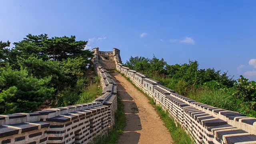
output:
[[[125,66],[198,102],[256,117],[256,83],[243,76],[234,80],[227,72],[199,69],[197,61],[169,65],[155,56],[152,59],[131,56]]]

